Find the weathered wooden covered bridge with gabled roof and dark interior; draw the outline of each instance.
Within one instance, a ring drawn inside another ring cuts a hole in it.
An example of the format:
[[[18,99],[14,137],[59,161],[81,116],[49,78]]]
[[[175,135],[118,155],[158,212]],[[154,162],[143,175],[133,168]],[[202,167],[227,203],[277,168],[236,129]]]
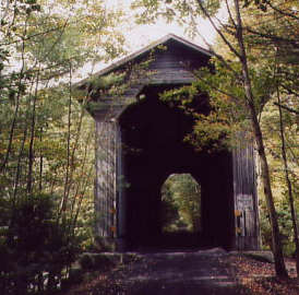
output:
[[[252,143],[232,152],[196,152],[183,142],[192,119],[158,97],[191,84],[193,71],[211,57],[170,34],[80,83],[91,94],[96,121],[95,231],[113,249],[159,246],[162,186],[169,175],[186,173],[201,185],[199,246],[259,248]],[[113,78],[119,86],[108,91],[103,81]],[[208,111],[206,95],[200,95],[196,111]]]

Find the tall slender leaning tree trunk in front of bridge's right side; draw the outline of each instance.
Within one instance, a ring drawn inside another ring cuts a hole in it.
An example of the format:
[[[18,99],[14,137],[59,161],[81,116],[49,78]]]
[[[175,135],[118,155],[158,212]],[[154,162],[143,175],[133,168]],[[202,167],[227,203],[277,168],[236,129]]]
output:
[[[272,189],[271,189],[270,172],[268,172],[268,164],[267,164],[265,149],[264,149],[263,134],[262,134],[261,127],[260,127],[256,111],[255,111],[254,97],[252,94],[251,80],[250,80],[249,70],[248,70],[247,54],[246,54],[244,44],[243,44],[242,21],[241,21],[239,1],[234,0],[234,2],[235,2],[236,16],[237,16],[236,37],[240,48],[240,61],[242,66],[242,78],[243,78],[246,97],[247,97],[247,103],[250,109],[251,122],[252,122],[254,138],[255,138],[258,152],[261,161],[262,181],[263,181],[264,193],[266,198],[266,204],[267,204],[267,210],[268,210],[271,226],[272,226],[272,244],[273,244],[273,255],[275,260],[275,271],[277,276],[288,278],[285,261],[284,261],[284,256],[283,256],[277,214],[276,214]]]

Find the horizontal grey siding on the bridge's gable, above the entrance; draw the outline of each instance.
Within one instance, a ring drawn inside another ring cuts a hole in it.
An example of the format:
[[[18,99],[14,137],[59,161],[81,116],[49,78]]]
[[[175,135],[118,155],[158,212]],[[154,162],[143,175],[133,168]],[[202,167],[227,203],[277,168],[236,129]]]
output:
[[[100,97],[99,94],[94,95],[94,113],[93,115],[101,117],[109,115],[111,118],[117,118],[125,109],[125,107],[136,101],[137,95],[146,85],[186,85],[195,81],[193,70],[206,66],[210,56],[195,51],[190,48],[184,48],[182,45],[168,42],[165,44],[166,49],[157,49],[152,54],[136,60],[135,63],[145,61],[151,58],[147,69],[139,70],[139,67],[132,67],[130,70],[129,87],[121,96],[118,97]],[[129,71],[128,64],[118,71]],[[139,72],[140,71],[140,72]],[[98,107],[97,107],[98,106]]]

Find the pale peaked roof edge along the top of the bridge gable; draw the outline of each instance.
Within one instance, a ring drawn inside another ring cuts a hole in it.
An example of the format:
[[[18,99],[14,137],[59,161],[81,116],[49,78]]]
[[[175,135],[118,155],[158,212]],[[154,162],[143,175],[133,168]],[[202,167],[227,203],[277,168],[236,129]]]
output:
[[[129,63],[130,61],[139,58],[140,56],[142,55],[145,55],[147,52],[150,52],[152,49],[154,49],[155,47],[159,46],[159,45],[164,45],[166,44],[167,42],[169,40],[175,40],[176,43],[178,44],[181,44],[183,46],[186,46],[187,48],[190,48],[190,49],[193,49],[200,54],[203,54],[203,55],[206,55],[206,56],[210,56],[212,57],[213,54],[204,48],[202,48],[201,46],[199,45],[195,45],[194,43],[191,43],[182,37],[179,37],[175,34],[168,34],[162,38],[159,38],[158,40],[156,42],[153,42],[151,43],[150,45],[143,47],[142,49],[111,63],[110,66],[108,66],[107,68],[103,69],[103,70],[99,70],[98,72],[94,73],[92,76],[100,76],[100,75],[104,75],[104,74],[108,74],[117,69],[119,69],[120,67],[124,66],[125,63]],[[77,86],[83,86],[85,84],[86,81],[88,81],[89,78],[86,78],[82,81],[80,81],[77,84]]]

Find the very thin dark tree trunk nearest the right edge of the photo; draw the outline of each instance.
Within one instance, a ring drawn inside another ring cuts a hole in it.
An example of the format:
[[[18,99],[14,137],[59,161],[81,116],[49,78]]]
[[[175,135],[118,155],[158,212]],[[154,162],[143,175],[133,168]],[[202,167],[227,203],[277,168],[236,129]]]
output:
[[[296,269],[297,269],[297,278],[299,278],[299,238],[298,238],[298,224],[297,224],[297,214],[295,210],[294,204],[294,196],[292,196],[292,189],[291,184],[289,180],[289,174],[288,174],[288,161],[287,161],[287,153],[286,153],[286,142],[285,142],[285,132],[284,132],[284,122],[283,122],[283,110],[282,110],[282,104],[280,104],[280,95],[279,95],[279,87],[276,84],[276,91],[277,91],[277,106],[279,110],[279,131],[280,131],[280,139],[282,139],[282,155],[284,161],[284,170],[285,170],[285,177],[286,182],[288,187],[288,198],[289,198],[289,206],[290,206],[290,213],[291,213],[291,222],[292,222],[292,231],[294,231],[294,241],[296,246]]]

